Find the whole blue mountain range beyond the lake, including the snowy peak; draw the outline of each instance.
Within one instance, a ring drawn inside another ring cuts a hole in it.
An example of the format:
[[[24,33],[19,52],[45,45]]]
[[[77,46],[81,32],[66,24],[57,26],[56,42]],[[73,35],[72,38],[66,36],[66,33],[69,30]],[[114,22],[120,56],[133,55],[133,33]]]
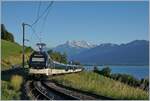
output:
[[[149,63],[149,41],[134,40],[126,44],[89,44],[85,41],[67,41],[54,48],[66,52],[69,60],[82,64],[147,65]]]

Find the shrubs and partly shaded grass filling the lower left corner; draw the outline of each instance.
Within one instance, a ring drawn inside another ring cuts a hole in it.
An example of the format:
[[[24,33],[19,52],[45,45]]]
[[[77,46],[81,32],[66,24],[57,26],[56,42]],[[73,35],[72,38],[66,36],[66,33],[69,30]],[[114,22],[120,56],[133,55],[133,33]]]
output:
[[[24,78],[27,73],[22,68],[1,72],[1,99],[20,100]]]

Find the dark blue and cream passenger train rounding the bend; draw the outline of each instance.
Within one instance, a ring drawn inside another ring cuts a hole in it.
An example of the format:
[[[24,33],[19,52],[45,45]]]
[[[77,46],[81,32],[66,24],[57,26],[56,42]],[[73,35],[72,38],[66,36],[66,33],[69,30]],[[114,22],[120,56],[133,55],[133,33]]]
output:
[[[33,51],[29,57],[30,75],[56,75],[65,73],[80,72],[83,70],[81,65],[64,64],[52,60],[47,51],[39,48],[39,51]]]

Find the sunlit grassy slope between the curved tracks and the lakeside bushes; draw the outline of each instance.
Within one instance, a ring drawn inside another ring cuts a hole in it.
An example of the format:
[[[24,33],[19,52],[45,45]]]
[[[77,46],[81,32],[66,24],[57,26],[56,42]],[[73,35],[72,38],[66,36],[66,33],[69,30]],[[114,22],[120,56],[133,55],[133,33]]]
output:
[[[144,100],[147,92],[94,72],[81,72],[52,78],[59,84],[114,99]]]

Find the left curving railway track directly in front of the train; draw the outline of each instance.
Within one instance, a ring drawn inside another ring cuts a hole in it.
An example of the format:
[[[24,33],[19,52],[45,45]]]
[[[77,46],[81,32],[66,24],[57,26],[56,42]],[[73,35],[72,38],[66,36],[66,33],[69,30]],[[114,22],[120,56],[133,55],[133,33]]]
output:
[[[41,81],[27,81],[26,95],[32,100],[76,100],[76,98],[56,92],[42,85]]]

